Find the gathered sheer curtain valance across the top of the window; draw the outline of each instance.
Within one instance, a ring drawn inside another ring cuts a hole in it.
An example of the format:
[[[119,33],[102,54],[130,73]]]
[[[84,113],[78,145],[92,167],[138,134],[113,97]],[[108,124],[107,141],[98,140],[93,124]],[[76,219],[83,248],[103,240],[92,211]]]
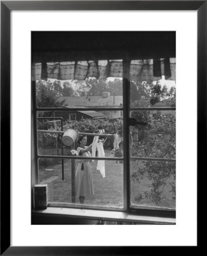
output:
[[[129,77],[123,72],[123,60],[91,60],[42,62],[32,64],[32,81],[85,80],[87,77],[106,79],[123,77],[133,81],[156,81],[165,76],[176,80],[176,58],[131,60],[127,63]]]

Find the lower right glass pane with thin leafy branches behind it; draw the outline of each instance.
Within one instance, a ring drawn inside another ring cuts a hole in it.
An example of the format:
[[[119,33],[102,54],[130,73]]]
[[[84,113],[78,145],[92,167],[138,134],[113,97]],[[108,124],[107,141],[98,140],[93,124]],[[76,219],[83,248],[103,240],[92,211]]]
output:
[[[130,162],[131,206],[175,209],[176,163],[136,160]]]

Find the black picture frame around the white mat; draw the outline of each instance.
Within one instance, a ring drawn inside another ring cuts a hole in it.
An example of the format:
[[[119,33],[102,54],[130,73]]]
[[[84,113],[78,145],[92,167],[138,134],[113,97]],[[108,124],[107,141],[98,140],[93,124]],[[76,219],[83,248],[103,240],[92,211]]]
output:
[[[199,167],[206,157],[206,1],[1,1],[1,255],[146,255],[149,250],[155,250],[154,247],[143,246],[139,247],[139,250],[136,246],[10,246],[10,13],[12,10],[197,10],[197,163]],[[199,196],[197,198],[199,199]],[[159,254],[162,254],[163,250],[160,250]]]

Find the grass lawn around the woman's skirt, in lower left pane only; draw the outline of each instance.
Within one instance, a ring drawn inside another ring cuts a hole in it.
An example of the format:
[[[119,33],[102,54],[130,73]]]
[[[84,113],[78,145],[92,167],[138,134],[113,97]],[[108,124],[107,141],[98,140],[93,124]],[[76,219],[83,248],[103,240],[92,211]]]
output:
[[[110,150],[105,150],[105,156],[110,156]],[[114,160],[105,161],[103,178],[96,170],[97,161],[90,163],[92,167],[94,196],[85,199],[85,204],[107,207],[123,207],[123,166]],[[77,166],[77,163],[76,163]],[[48,201],[71,203],[71,160],[64,160],[64,178],[62,180],[61,160],[48,166],[53,171],[39,168],[39,183],[48,184]],[[77,200],[78,203],[78,200]]]

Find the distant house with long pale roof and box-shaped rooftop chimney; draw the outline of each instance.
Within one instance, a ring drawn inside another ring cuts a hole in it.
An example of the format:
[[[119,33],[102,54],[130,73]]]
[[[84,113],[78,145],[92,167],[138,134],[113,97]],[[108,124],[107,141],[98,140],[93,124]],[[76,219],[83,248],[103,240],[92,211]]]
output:
[[[120,108],[123,106],[123,96],[110,96],[109,92],[103,92],[102,96],[74,96],[74,97],[60,97],[59,101],[65,100],[65,108],[70,109],[71,108]],[[74,107],[76,106],[76,107]],[[74,118],[74,114],[77,114],[77,118],[80,116],[80,111],[77,111],[77,113],[71,113],[71,116],[69,119]],[[97,114],[99,113],[99,114]],[[65,113],[66,114],[66,113]],[[64,117],[66,115],[64,114]],[[72,115],[73,114],[73,115]],[[121,110],[106,110],[100,112],[92,112],[92,111],[84,111],[82,113],[83,115],[88,115],[87,118],[97,119],[97,118],[121,118],[122,117],[122,111]],[[101,115],[102,114],[102,115]],[[76,119],[77,119],[76,118]],[[84,117],[86,118],[86,117]]]

